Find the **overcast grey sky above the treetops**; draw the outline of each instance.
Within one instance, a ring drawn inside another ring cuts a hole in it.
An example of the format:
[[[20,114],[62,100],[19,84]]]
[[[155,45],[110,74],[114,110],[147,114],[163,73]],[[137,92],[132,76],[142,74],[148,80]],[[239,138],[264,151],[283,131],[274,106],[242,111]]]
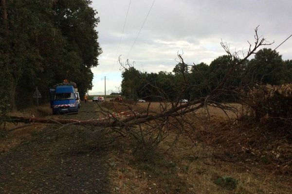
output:
[[[275,48],[292,34],[292,0],[156,0],[145,25],[130,51],[153,0],[131,0],[121,45],[117,54],[130,0],[92,0],[98,12],[98,42],[103,53],[92,68],[90,94],[118,91],[121,84],[117,55],[134,63],[140,71],[172,71],[177,53],[188,64],[210,64],[224,54],[221,39],[235,50],[248,48],[254,41],[254,29]],[[292,59],[292,38],[277,51],[283,59]],[[129,54],[128,54],[129,53]]]

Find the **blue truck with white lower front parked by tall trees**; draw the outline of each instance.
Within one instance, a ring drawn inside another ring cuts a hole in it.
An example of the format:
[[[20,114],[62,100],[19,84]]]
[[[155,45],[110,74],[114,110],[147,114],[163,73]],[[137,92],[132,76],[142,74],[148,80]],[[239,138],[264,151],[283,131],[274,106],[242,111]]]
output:
[[[63,81],[50,88],[53,114],[78,113],[80,97],[76,83]]]

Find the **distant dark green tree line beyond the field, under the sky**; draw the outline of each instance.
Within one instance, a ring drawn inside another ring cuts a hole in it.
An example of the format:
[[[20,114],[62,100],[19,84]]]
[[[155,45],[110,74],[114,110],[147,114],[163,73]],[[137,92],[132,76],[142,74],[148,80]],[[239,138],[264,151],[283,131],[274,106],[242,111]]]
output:
[[[122,92],[131,99],[192,100],[204,97],[228,76],[231,65],[238,59],[219,56],[210,65],[178,63],[172,72],[147,73],[130,67],[123,73]],[[126,76],[127,75],[127,76]],[[283,61],[272,49],[260,49],[252,60],[246,60],[233,70],[231,81],[223,88],[234,90],[242,85],[292,83],[292,60]],[[131,92],[128,92],[131,91]],[[131,94],[131,95],[130,95]],[[236,101],[232,93],[219,96],[219,101]]]

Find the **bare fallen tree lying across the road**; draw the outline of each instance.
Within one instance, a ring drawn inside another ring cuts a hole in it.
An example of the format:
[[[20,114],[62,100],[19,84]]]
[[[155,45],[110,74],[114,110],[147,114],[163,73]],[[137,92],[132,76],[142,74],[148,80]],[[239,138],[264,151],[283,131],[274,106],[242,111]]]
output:
[[[131,106],[131,104],[122,103],[129,112],[131,116],[119,117],[115,113],[112,113],[109,110],[105,110],[102,107],[103,118],[96,118],[90,120],[74,120],[74,119],[62,119],[62,118],[35,118],[35,117],[17,117],[12,116],[10,122],[23,122],[23,123],[55,123],[60,125],[82,125],[82,126],[92,126],[99,128],[107,128],[116,131],[119,136],[130,135],[136,139],[140,145],[144,148],[153,149],[157,146],[168,134],[169,129],[176,130],[177,134],[180,135],[183,126],[188,125],[191,128],[195,129],[193,121],[189,120],[185,115],[187,113],[198,114],[199,110],[203,109],[206,115],[209,114],[209,107],[215,107],[222,110],[223,113],[228,116],[226,111],[237,112],[236,107],[233,107],[229,104],[219,101],[222,99],[222,96],[233,95],[235,98],[239,99],[242,95],[247,94],[246,91],[249,91],[251,85],[246,83],[239,83],[237,87],[234,86],[235,79],[238,80],[238,76],[244,76],[240,74],[240,69],[243,68],[245,61],[253,54],[256,50],[263,46],[270,45],[265,43],[265,39],[257,34],[257,28],[255,29],[255,43],[249,43],[249,49],[246,54],[243,54],[243,58],[239,57],[238,52],[231,52],[227,43],[221,43],[221,46],[226,51],[229,56],[228,61],[228,71],[220,80],[218,80],[217,86],[212,89],[207,95],[203,97],[197,97],[187,103],[182,104],[179,99],[173,100],[165,92],[157,87],[157,85],[150,83],[145,80],[145,87],[150,88],[155,91],[155,97],[161,99],[160,107],[158,110],[150,109],[151,103],[148,103],[148,106],[145,109],[141,109],[139,112]],[[184,68],[189,68],[189,65],[186,65],[183,61],[182,55],[178,54],[180,63],[183,64]],[[120,65],[122,69],[126,70],[131,68],[132,65],[128,63],[122,63]],[[188,79],[184,76],[183,72],[183,82],[181,83],[182,87],[180,88],[180,93],[186,92],[186,88],[196,88],[197,85],[191,85]],[[143,79],[143,78],[141,78]],[[206,81],[207,82],[207,81]],[[112,102],[113,103],[113,102]],[[114,106],[113,106],[114,108]],[[115,110],[112,110],[115,111]]]

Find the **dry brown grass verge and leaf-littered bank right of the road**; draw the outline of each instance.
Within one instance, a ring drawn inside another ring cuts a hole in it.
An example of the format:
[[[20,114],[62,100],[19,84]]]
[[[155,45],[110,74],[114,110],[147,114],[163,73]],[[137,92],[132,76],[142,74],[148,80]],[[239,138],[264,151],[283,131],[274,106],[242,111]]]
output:
[[[123,109],[114,106],[117,111]],[[148,104],[136,106],[146,108]],[[160,103],[151,103],[150,109],[159,110]],[[121,141],[110,154],[110,180],[116,185],[113,193],[292,193],[289,137],[236,120],[237,115],[231,112],[228,119],[218,108],[210,107],[209,113],[208,121],[188,116],[196,120],[195,130],[186,127],[179,139],[172,133],[147,159],[141,159],[129,140]]]

